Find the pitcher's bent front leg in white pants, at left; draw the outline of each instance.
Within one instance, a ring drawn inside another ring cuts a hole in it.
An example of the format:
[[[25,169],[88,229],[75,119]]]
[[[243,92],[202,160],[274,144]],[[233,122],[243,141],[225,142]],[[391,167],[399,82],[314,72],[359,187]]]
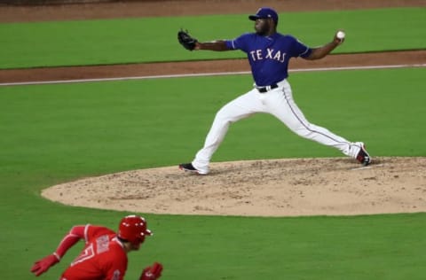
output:
[[[231,123],[256,113],[257,107],[258,100],[253,90],[241,97],[237,97],[222,107],[215,116],[215,120],[204,142],[204,146],[197,152],[195,159],[193,159],[193,167],[207,174],[209,172],[210,159],[224,140]]]

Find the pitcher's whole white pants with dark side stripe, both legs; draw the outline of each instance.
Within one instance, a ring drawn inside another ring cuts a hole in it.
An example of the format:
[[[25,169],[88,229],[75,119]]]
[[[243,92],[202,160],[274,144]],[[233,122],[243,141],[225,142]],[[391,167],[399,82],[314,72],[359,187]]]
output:
[[[230,124],[248,118],[254,113],[270,113],[298,136],[335,147],[352,158],[357,157],[362,143],[351,143],[341,136],[336,136],[327,128],[321,128],[307,121],[293,99],[287,80],[279,82],[278,85],[278,88],[265,93],[260,93],[256,88],[251,89],[223,106],[216,114],[204,146],[193,159],[193,167],[201,174],[209,173],[210,159],[224,140]]]

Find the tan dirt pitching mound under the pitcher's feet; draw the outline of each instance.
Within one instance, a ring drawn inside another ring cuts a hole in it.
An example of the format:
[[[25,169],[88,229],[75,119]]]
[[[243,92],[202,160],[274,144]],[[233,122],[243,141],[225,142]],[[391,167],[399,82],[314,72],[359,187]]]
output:
[[[156,214],[352,215],[426,211],[426,158],[276,159],[177,167],[62,183],[42,195],[71,206]]]

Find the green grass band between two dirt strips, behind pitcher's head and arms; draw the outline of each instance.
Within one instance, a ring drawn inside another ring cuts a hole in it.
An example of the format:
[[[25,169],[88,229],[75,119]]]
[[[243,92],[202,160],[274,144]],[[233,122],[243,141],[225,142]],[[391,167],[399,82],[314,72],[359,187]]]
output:
[[[0,68],[124,64],[188,59],[242,58],[241,51],[185,51],[177,30],[201,41],[232,39],[253,31],[247,14],[0,24]],[[424,8],[335,12],[281,12],[279,31],[308,45],[330,41],[338,28],[339,52],[424,50]]]

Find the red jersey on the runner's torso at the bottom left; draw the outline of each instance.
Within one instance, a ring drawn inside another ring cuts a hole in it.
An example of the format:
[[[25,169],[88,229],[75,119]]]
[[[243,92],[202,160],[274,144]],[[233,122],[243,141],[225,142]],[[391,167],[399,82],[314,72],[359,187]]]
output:
[[[116,233],[105,227],[86,225],[86,245],[62,274],[62,280],[122,280],[127,270],[127,253]]]

